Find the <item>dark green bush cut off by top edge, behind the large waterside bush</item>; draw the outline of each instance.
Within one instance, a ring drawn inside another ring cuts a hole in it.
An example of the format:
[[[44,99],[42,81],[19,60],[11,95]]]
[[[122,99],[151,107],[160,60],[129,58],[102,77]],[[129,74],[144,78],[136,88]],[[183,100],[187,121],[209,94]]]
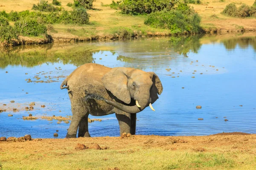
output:
[[[177,0],[122,0],[119,8],[125,14],[150,14],[163,9],[172,9]]]

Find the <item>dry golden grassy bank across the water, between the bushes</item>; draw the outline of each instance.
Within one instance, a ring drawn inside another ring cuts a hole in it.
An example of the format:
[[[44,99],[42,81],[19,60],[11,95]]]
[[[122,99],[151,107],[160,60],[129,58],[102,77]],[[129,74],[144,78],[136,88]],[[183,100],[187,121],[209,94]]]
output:
[[[221,11],[229,3],[242,3],[252,5],[254,0],[229,0],[221,2],[216,0],[201,0],[201,4],[190,4],[201,17],[201,27],[205,33],[230,33],[256,31],[256,18],[234,18],[221,14]],[[61,7],[65,10],[72,10],[67,3],[73,0],[62,0]],[[119,10],[106,6],[111,0],[96,0],[93,2],[94,10],[87,10],[90,14],[90,25],[76,26],[71,24],[53,24],[48,30],[49,37],[20,37],[14,45],[44,44],[49,42],[79,42],[90,40],[113,40],[130,37],[154,37],[174,35],[167,29],[151,28],[144,24],[145,16],[131,16],[121,14]],[[0,10],[6,12],[31,10],[33,4],[38,0],[20,0],[13,2],[3,0],[0,3]],[[50,2],[49,2],[50,3]],[[12,24],[12,23],[10,23]],[[132,35],[130,34],[132,33]],[[3,44],[2,44],[3,46]]]

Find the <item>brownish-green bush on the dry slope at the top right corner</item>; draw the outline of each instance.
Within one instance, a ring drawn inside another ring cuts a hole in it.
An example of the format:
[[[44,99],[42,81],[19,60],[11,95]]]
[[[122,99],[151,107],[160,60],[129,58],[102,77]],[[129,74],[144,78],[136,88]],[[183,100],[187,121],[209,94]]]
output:
[[[239,18],[256,17],[256,1],[253,3],[253,6],[242,4],[239,8],[236,7],[235,3],[230,3],[221,13]]]

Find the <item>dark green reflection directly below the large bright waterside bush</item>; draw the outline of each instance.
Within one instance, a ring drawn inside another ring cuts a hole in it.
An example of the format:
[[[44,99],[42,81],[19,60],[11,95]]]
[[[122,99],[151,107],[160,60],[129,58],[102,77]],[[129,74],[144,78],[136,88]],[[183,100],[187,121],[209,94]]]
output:
[[[171,37],[170,44],[175,52],[188,57],[187,53],[189,52],[198,53],[198,50],[201,48],[199,41],[201,37],[203,37],[203,34],[189,37]]]

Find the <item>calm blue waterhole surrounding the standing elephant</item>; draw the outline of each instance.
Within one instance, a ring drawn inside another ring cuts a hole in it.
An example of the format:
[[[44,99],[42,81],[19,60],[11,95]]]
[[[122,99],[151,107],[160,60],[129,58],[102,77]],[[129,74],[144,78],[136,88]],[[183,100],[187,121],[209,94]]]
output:
[[[160,77],[163,93],[153,104],[156,111],[146,108],[137,114],[137,134],[256,133],[256,36],[244,34],[0,49],[0,109],[7,109],[0,113],[0,136],[53,138],[59,130],[58,138],[64,138],[70,123],[41,116],[72,115],[67,90],[59,86],[75,68],[87,62],[154,71]],[[32,82],[25,80],[29,78]],[[26,111],[31,102],[36,103],[33,111]],[[196,109],[196,105],[202,109]],[[22,116],[29,113],[39,119],[23,120]],[[89,123],[91,136],[119,136],[115,114],[89,117],[102,119]]]

